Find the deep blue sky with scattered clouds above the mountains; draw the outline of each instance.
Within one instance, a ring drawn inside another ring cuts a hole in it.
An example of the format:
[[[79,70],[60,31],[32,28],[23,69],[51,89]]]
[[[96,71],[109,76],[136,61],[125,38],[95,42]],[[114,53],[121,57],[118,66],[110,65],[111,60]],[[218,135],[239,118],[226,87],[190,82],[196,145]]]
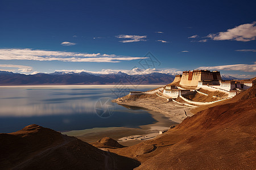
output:
[[[255,8],[255,1],[2,0],[0,70],[209,69],[251,78],[256,76]],[[159,62],[143,68],[140,61],[148,60],[148,52]]]

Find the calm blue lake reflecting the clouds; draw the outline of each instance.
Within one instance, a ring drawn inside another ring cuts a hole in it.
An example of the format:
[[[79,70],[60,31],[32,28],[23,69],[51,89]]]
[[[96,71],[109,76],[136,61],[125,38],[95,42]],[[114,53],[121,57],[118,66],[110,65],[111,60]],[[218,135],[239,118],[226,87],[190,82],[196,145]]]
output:
[[[155,122],[147,111],[110,101],[155,86],[13,86],[0,87],[0,133],[30,124],[57,131],[106,127],[136,128]]]

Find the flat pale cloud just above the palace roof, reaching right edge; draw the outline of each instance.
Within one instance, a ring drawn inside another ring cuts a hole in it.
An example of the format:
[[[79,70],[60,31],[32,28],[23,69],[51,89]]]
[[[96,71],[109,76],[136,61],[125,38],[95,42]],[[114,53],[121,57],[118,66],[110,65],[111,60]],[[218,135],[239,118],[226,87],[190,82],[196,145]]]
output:
[[[237,65],[224,65],[224,66],[209,66],[209,67],[199,67],[199,70],[234,70],[234,71],[245,71],[245,72],[255,72],[256,62],[254,64],[237,64]]]

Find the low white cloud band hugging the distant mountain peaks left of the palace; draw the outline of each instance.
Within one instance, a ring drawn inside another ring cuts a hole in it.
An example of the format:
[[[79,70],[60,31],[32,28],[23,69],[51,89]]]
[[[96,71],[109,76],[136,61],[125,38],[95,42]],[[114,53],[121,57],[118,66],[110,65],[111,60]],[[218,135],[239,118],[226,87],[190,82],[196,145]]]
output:
[[[55,71],[63,71],[64,73],[92,73],[92,74],[110,74],[110,73],[118,73],[121,71],[122,73],[126,73],[129,75],[142,75],[142,74],[150,74],[150,73],[165,73],[165,74],[182,74],[182,71],[177,69],[140,69],[140,68],[134,68],[132,70],[113,70],[113,69],[102,69],[101,71],[88,71],[88,70],[55,70]]]

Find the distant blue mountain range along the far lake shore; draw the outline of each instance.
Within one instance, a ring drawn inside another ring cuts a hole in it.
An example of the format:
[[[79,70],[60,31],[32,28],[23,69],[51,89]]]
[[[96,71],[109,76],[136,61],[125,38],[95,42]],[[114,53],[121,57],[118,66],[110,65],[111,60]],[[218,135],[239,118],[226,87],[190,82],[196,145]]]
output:
[[[0,85],[61,85],[61,84],[168,84],[175,78],[175,74],[151,73],[143,75],[129,75],[118,72],[112,74],[81,73],[38,73],[19,74],[8,71],[0,71]],[[237,79],[233,76],[223,75],[224,80]]]

